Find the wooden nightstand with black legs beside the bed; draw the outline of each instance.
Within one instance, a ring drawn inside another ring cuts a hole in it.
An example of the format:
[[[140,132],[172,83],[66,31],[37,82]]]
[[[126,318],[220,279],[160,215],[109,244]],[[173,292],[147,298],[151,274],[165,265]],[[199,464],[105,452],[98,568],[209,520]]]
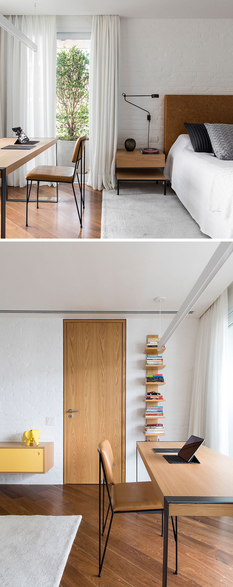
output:
[[[165,166],[165,154],[143,155],[140,149],[116,149],[117,194],[120,181],[162,181],[166,195],[166,177],[157,167]]]

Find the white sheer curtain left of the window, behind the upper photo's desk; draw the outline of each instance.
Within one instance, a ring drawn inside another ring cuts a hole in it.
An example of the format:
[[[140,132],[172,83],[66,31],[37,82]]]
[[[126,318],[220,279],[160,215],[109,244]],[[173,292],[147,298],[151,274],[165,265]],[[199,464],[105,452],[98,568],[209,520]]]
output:
[[[12,137],[21,126],[29,137],[56,136],[56,16],[7,16],[37,45],[28,49],[4,29],[0,40],[0,133]],[[36,157],[37,165],[54,165],[55,147]],[[8,176],[8,185],[26,185],[35,160]]]

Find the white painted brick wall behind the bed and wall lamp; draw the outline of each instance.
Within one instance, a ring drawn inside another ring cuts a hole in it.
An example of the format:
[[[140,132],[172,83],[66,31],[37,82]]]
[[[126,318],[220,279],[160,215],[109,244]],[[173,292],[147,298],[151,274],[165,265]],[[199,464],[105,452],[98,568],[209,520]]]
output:
[[[121,19],[118,146],[128,137],[146,145],[146,112],[126,104],[126,94],[151,113],[150,137],[163,148],[165,94],[232,94],[232,19]],[[189,121],[190,122],[190,121]],[[193,122],[196,122],[193,120]]]

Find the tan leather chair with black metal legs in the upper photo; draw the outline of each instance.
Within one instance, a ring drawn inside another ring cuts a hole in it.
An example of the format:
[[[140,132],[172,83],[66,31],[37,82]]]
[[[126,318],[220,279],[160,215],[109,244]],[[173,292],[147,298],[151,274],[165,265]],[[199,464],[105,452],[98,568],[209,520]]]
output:
[[[85,208],[85,182],[83,178],[83,186],[82,186],[82,173],[85,174],[85,140],[87,139],[86,135],[79,137],[77,139],[76,144],[74,146],[73,156],[72,156],[72,163],[75,163],[75,167],[59,167],[59,166],[52,166],[52,165],[39,165],[34,167],[32,171],[29,171],[28,175],[26,175],[27,180],[27,199],[26,199],[26,226],[28,226],[28,203],[30,197],[30,190],[32,187],[32,182],[37,181],[37,208],[38,205],[38,197],[39,197],[39,184],[40,181],[56,181],[57,183],[57,201],[58,201],[58,184],[60,183],[69,183],[72,185],[73,192],[74,192],[74,200],[76,201],[76,207],[78,211],[78,218],[80,220],[80,227],[82,227],[82,207]],[[84,158],[84,167],[82,170],[82,162]],[[78,164],[80,163],[80,172],[81,172],[81,183],[79,181],[78,175],[78,185],[80,188],[81,200],[80,200],[80,212],[78,210],[78,204],[76,199],[76,193],[74,191],[74,180],[76,178],[76,174],[78,173]],[[28,182],[30,181],[30,188],[28,191]]]

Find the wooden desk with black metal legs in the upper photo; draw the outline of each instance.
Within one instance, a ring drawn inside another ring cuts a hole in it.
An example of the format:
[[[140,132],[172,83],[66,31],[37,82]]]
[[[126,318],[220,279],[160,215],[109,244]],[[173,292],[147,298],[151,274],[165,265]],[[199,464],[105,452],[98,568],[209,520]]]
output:
[[[34,140],[34,139],[31,139]],[[40,142],[33,147],[33,149],[9,149],[1,151],[2,147],[14,144],[15,139],[0,139],[0,171],[2,178],[2,194],[1,194],[1,238],[6,238],[6,198],[7,198],[7,176],[12,171],[15,171],[31,159],[34,159],[49,147],[56,144],[56,165],[57,165],[57,139],[35,139]],[[26,200],[25,200],[26,201]]]

